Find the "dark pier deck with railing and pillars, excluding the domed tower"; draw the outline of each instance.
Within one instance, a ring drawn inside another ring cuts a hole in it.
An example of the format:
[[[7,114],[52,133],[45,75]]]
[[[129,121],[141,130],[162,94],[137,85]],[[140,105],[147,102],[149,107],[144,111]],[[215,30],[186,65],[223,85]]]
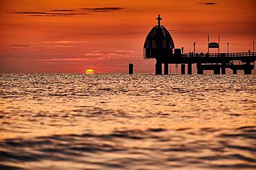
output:
[[[256,52],[172,54],[171,57],[156,60],[156,74],[162,74],[162,66],[163,74],[171,74],[170,64],[181,65],[181,74],[185,74],[185,70],[187,74],[192,74],[192,64],[196,64],[197,74],[203,74],[204,70],[212,70],[214,74],[226,74],[226,69],[232,70],[233,74],[237,74],[238,70],[251,74],[255,67]]]

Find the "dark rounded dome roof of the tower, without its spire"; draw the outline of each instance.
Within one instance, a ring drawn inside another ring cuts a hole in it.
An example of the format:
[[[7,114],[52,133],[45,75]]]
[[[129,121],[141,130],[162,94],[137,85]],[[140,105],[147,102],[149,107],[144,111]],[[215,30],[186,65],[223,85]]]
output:
[[[144,48],[174,48],[174,41],[170,32],[163,25],[156,25],[147,35]]]

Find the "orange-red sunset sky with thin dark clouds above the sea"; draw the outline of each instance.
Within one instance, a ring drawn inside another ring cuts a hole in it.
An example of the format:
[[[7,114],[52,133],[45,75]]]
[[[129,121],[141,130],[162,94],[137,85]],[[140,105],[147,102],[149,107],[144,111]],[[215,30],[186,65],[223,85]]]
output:
[[[153,73],[143,44],[158,14],[185,52],[194,41],[207,52],[208,34],[220,35],[221,52],[227,43],[230,52],[253,51],[255,8],[255,0],[1,0],[0,72],[127,72],[131,62]]]

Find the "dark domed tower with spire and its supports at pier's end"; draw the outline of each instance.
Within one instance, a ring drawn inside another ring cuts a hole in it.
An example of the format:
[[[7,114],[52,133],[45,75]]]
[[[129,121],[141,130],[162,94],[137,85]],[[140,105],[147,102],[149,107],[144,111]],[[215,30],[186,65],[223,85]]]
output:
[[[165,74],[168,74],[167,59],[172,56],[174,41],[168,30],[161,25],[160,14],[156,20],[158,25],[152,28],[144,43],[144,58],[156,59],[156,74],[162,74],[162,63],[164,63]]]

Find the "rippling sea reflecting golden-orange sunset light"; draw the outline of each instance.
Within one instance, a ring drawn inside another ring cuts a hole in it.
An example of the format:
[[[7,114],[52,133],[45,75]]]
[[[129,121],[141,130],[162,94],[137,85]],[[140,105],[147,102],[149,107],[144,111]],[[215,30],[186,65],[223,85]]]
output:
[[[1,73],[0,169],[256,169],[256,75]]]

